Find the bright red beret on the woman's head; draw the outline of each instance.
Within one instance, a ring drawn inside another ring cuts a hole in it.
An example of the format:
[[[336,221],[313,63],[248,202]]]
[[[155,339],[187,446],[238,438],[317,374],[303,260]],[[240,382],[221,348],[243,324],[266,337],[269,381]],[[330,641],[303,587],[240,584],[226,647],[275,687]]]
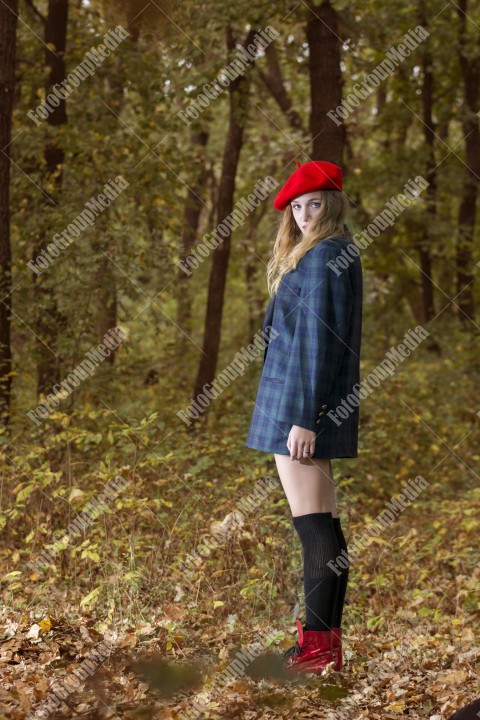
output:
[[[273,201],[277,210],[285,210],[290,200],[314,190],[341,190],[342,169],[324,160],[311,160],[300,165],[290,175]]]

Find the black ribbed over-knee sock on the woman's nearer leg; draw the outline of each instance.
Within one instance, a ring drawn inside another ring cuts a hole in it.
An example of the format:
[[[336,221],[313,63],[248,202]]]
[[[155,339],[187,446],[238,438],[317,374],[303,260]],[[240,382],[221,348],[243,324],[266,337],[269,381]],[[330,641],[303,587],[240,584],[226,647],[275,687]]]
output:
[[[334,621],[338,574],[329,567],[340,554],[332,513],[293,517],[303,546],[307,630],[330,630]]]

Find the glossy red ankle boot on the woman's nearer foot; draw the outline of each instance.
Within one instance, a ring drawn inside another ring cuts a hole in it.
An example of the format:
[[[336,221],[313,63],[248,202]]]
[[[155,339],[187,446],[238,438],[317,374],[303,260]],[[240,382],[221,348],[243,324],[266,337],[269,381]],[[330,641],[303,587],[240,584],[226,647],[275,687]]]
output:
[[[332,631],[304,630],[300,620],[295,622],[298,641],[284,653],[284,667],[320,675],[329,663],[337,662],[331,647]]]

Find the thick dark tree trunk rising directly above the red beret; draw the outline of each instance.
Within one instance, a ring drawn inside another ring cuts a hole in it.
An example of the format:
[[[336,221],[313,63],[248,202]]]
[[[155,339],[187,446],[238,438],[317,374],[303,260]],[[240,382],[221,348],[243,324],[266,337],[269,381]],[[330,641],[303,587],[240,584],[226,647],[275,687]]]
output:
[[[338,36],[338,16],[330,0],[324,0],[319,6],[308,0],[307,6],[311,156],[313,160],[328,160],[342,165],[345,126],[343,122],[337,125],[327,115],[342,101],[342,41]]]

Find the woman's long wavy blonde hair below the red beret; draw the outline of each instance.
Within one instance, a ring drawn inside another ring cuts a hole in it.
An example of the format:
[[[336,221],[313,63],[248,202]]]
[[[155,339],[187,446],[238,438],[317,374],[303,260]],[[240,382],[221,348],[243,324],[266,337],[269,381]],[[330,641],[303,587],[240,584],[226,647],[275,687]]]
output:
[[[282,277],[297,267],[299,260],[317,243],[333,235],[350,235],[346,221],[350,204],[345,193],[339,190],[319,190],[320,212],[312,219],[305,234],[298,227],[288,203],[273,243],[272,255],[267,263],[267,287],[270,295],[277,292]]]

